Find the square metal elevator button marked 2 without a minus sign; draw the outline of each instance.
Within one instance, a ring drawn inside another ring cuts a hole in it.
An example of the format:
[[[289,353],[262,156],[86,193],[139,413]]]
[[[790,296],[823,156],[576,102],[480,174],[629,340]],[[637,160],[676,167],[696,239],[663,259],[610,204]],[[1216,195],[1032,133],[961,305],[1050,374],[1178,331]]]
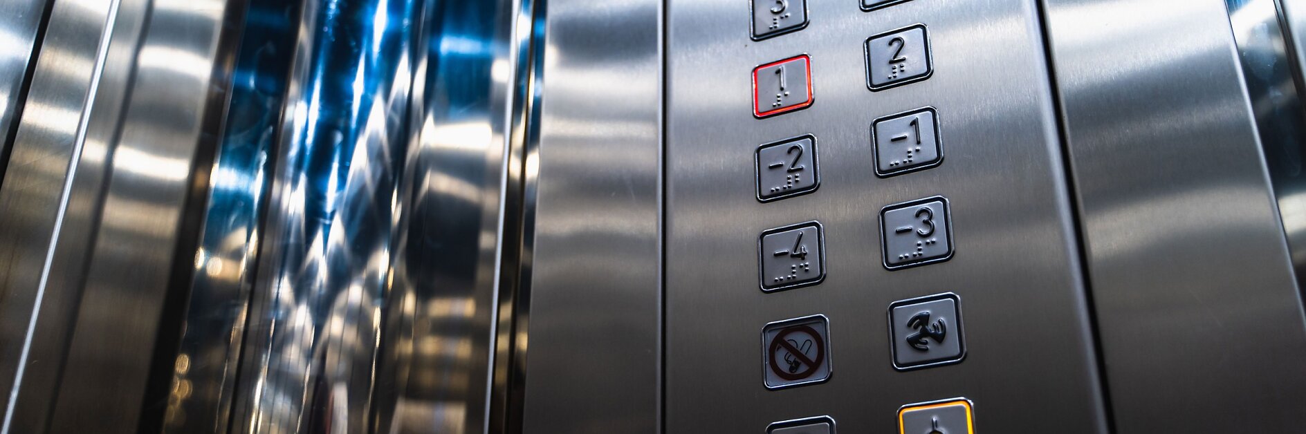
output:
[[[883,90],[926,80],[934,72],[925,25],[914,25],[866,39],[867,86]]]

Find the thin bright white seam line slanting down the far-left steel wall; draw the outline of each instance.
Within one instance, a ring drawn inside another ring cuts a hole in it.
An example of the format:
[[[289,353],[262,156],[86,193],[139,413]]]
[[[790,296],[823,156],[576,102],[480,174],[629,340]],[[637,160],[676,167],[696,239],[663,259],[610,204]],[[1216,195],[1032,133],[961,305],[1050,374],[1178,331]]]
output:
[[[31,331],[37,326],[37,317],[40,313],[40,301],[46,296],[46,283],[50,279],[50,265],[54,262],[55,257],[55,244],[59,241],[59,231],[64,223],[64,214],[68,209],[68,194],[72,190],[73,179],[77,175],[77,163],[81,159],[82,145],[86,142],[86,123],[90,119],[91,103],[95,102],[95,93],[99,89],[101,73],[104,70],[104,57],[108,55],[108,42],[110,35],[114,31],[114,22],[118,20],[118,5],[121,0],[110,0],[108,17],[106,18],[104,30],[101,34],[99,47],[95,53],[95,69],[91,72],[90,87],[86,93],[86,100],[82,104],[81,119],[77,125],[77,139],[73,145],[72,158],[68,160],[67,176],[64,176],[64,188],[60,190],[63,199],[59,201],[59,212],[55,214],[55,227],[50,235],[50,249],[46,250],[46,259],[40,270],[40,283],[37,285],[37,300],[31,306],[31,317],[27,321],[27,334],[22,340],[22,353],[18,361],[18,369],[14,373],[13,388],[9,390],[9,405],[5,408],[4,426],[0,426],[0,433],[9,433],[9,424],[13,422],[13,409],[18,401],[18,390],[22,387],[22,374],[26,370],[27,353],[31,351]]]

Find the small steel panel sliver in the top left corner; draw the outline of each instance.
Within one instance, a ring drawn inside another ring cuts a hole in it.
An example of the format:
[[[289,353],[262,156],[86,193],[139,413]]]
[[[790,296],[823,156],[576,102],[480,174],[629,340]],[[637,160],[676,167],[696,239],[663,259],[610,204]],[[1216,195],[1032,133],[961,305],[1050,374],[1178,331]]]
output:
[[[48,0],[10,0],[0,4],[0,184],[4,182],[4,163],[13,137],[14,119],[27,96],[22,85],[27,80],[27,68],[33,48],[37,46],[38,29],[46,18]]]

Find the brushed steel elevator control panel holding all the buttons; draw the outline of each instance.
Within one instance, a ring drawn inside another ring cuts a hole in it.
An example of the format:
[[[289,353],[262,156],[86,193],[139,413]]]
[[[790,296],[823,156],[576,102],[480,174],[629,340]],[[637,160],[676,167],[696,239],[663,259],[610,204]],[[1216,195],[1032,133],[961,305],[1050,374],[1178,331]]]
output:
[[[666,10],[667,431],[1104,433],[1037,8]]]

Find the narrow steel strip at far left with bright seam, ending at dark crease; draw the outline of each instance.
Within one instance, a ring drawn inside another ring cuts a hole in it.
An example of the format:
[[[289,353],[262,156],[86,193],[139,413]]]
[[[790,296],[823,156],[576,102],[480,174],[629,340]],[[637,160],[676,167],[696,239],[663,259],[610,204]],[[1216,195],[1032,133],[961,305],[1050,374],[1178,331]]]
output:
[[[60,1],[0,186],[0,390],[5,433],[39,433],[54,401],[141,4]],[[121,17],[121,20],[119,20]],[[34,364],[30,361],[46,361]]]

